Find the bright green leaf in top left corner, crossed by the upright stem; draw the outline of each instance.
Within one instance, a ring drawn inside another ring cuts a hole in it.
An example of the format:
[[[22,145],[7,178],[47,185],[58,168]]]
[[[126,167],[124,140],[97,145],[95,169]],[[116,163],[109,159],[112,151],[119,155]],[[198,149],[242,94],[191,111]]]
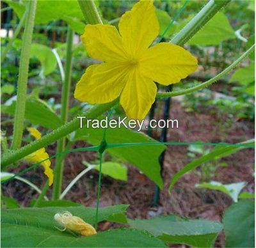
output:
[[[19,18],[21,18],[25,10],[24,2],[26,3],[26,1],[22,2],[6,1],[17,13]],[[59,19],[65,20],[77,33],[83,33],[85,24],[81,20],[84,17],[77,1],[37,1],[35,24],[48,24],[52,20]]]

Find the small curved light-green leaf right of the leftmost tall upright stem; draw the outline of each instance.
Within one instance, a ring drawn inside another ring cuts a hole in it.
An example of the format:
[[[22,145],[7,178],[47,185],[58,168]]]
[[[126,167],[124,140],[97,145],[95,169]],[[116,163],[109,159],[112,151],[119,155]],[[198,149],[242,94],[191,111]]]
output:
[[[37,43],[33,43],[31,45],[31,52],[30,52],[31,57],[36,57],[41,65],[42,65],[42,70],[40,74],[42,75],[48,75],[51,74],[57,65],[56,58],[49,47],[46,45],[41,45]]]

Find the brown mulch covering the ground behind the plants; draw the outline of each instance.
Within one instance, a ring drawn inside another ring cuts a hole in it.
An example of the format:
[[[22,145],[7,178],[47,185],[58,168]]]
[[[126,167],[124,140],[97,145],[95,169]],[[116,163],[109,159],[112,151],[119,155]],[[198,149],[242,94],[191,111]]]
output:
[[[185,112],[179,102],[172,103],[170,118],[179,120],[179,129],[168,130],[168,141],[203,141],[207,143],[237,143],[254,137],[254,123],[246,120],[234,120],[231,124],[226,121],[226,116],[205,112]],[[159,130],[154,132],[154,137],[159,137]],[[76,143],[73,148],[86,146],[83,142]],[[54,154],[55,146],[49,146],[47,151]],[[139,148],[138,148],[139,149]],[[172,176],[182,167],[186,166],[192,159],[188,157],[188,146],[169,146],[166,149],[163,167],[164,190],[161,191],[158,207],[152,207],[154,194],[154,183],[141,174],[138,169],[127,165],[128,181],[120,182],[108,176],[102,178],[100,194],[100,206],[116,204],[129,204],[127,216],[134,218],[148,218],[158,214],[177,214],[184,217],[202,217],[213,221],[221,221],[223,213],[232,200],[225,194],[214,190],[196,189],[195,184],[199,183],[199,177],[195,173],[184,175],[175,184],[172,194],[167,189]],[[84,169],[83,160],[88,162],[99,159],[93,151],[70,153],[65,160],[64,188],[68,183]],[[228,166],[219,167],[218,175],[212,180],[222,183],[247,182],[244,190],[254,190],[254,150],[244,149],[230,155],[221,162]],[[26,167],[24,164],[22,167]],[[17,173],[19,169],[14,169]],[[39,187],[44,185],[42,169],[38,167],[35,171],[24,174],[25,178],[31,180]],[[93,171],[86,174],[79,182],[72,187],[65,199],[76,201],[84,206],[95,206],[97,196],[98,173]],[[12,180],[3,185],[3,192],[6,196],[17,199],[22,206],[29,206],[31,199],[37,194],[30,187],[17,180]],[[51,192],[49,192],[51,196]],[[116,228],[120,225],[104,222],[100,229]],[[216,247],[224,247],[225,236],[219,235]],[[177,246],[175,246],[177,247]],[[178,246],[184,247],[184,246]]]

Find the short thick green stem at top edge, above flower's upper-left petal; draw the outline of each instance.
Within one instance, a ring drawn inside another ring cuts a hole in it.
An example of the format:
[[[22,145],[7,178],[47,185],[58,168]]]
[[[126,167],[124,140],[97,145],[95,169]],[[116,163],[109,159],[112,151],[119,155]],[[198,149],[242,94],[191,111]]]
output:
[[[102,24],[99,12],[93,0],[78,0],[87,24]]]

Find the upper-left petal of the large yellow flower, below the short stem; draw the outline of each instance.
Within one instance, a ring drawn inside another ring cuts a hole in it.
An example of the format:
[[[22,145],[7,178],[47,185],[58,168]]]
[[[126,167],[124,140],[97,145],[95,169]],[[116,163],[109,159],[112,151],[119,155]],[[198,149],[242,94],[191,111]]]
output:
[[[122,38],[115,26],[109,24],[87,24],[81,40],[86,52],[102,61],[122,61],[125,58]]]

